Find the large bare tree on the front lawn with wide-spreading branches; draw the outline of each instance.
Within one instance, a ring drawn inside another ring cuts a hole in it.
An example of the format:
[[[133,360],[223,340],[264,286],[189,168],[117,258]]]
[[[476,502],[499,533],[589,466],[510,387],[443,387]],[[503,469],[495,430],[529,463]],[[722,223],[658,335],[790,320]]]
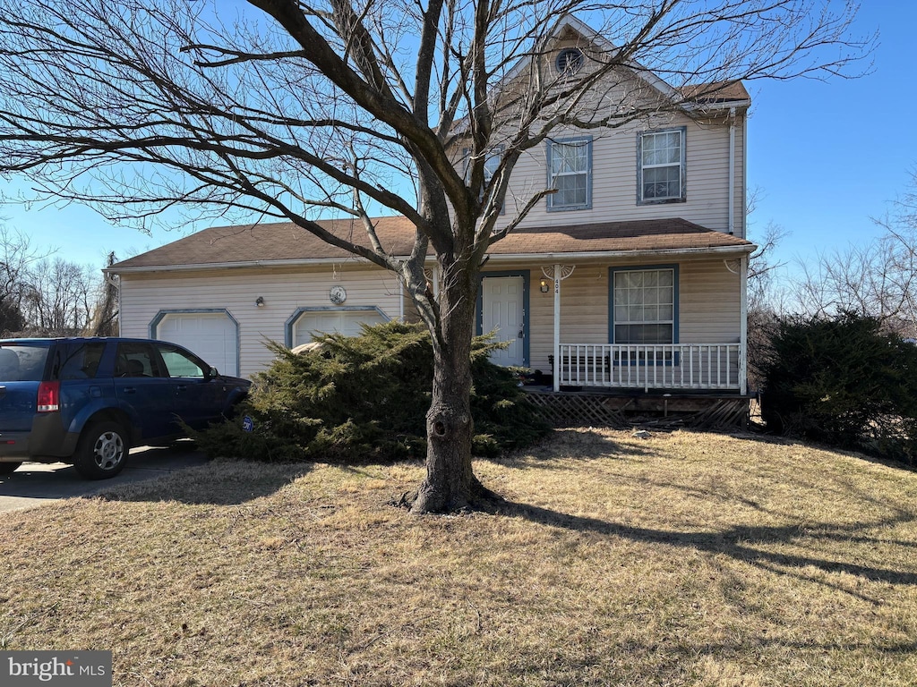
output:
[[[598,34],[584,68],[558,74],[574,12]],[[703,116],[738,80],[847,72],[873,40],[850,38],[855,14],[832,0],[19,0],[0,9],[0,172],[116,220],[176,204],[279,218],[396,272],[435,354],[414,511],[454,509],[486,494],[470,457],[479,271],[551,192],[506,197],[519,158],[565,128]],[[382,243],[380,211],[414,224],[410,256]]]

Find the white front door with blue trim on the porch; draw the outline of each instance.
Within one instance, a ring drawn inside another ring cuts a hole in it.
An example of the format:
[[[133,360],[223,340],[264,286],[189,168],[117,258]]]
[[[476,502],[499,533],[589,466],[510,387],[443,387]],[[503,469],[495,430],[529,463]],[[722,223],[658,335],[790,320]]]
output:
[[[481,331],[493,332],[497,341],[509,346],[491,354],[497,365],[525,365],[525,320],[522,277],[485,277],[481,279]]]

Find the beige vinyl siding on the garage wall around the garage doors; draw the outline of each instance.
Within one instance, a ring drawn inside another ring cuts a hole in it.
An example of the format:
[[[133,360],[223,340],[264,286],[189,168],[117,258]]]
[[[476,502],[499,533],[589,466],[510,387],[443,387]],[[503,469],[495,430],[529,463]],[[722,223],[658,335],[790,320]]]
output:
[[[397,278],[353,263],[268,270],[222,269],[121,276],[121,334],[149,336],[163,310],[226,309],[238,322],[239,373],[250,376],[271,363],[264,340],[284,343],[285,323],[299,308],[334,307],[328,289],[347,289],[345,306],[378,307],[392,320],[403,314]],[[264,299],[257,307],[255,299]]]

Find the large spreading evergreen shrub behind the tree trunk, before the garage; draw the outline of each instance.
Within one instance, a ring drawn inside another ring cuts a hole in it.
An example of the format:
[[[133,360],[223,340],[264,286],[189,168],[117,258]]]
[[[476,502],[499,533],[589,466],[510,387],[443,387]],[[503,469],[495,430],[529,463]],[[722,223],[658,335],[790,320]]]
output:
[[[323,334],[294,354],[268,344],[274,363],[225,424],[197,432],[211,455],[257,461],[367,463],[421,458],[433,385],[433,347],[421,324]],[[492,341],[475,339],[471,368],[475,455],[495,457],[549,431],[518,387],[519,371],[493,365]],[[246,431],[243,420],[253,420]]]

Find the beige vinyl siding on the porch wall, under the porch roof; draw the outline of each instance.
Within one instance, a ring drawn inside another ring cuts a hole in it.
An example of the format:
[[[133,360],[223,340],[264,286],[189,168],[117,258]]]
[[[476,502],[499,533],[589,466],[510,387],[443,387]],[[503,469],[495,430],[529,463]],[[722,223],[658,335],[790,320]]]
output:
[[[560,285],[560,342],[608,344],[610,267],[679,266],[679,343],[731,344],[739,340],[737,260],[626,260],[580,263]],[[728,265],[728,267],[727,267]],[[501,271],[529,270],[529,356],[532,369],[551,371],[554,352],[554,291],[539,289],[541,267],[500,265]],[[486,272],[483,276],[486,276]],[[548,280],[548,284],[552,282]]]

